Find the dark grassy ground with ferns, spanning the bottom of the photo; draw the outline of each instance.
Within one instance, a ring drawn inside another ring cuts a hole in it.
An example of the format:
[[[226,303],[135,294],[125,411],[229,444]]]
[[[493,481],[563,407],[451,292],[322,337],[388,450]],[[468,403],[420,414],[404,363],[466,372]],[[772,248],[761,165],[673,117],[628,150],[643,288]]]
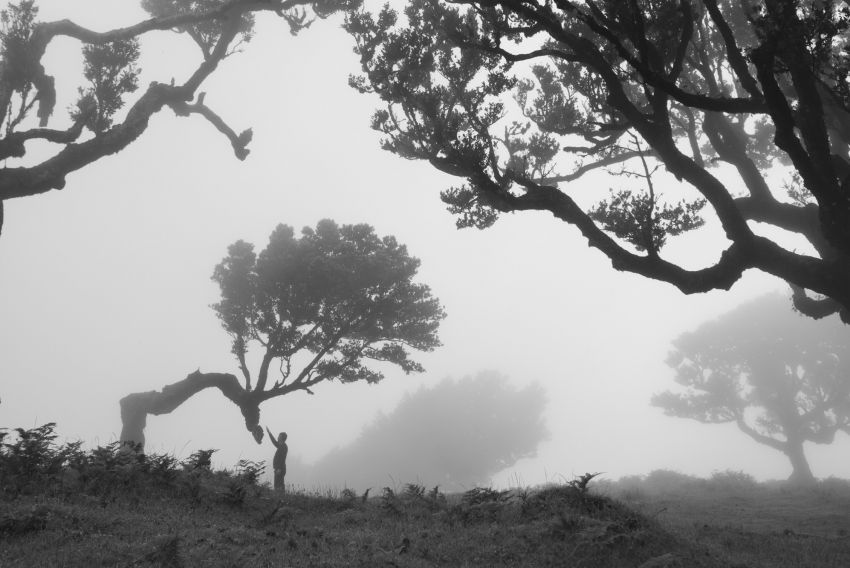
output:
[[[86,453],[42,434],[0,453],[0,568],[850,566],[850,484],[837,480],[795,489],[653,472],[280,495],[257,484],[261,464],[214,472],[206,452],[183,463],[115,445]]]

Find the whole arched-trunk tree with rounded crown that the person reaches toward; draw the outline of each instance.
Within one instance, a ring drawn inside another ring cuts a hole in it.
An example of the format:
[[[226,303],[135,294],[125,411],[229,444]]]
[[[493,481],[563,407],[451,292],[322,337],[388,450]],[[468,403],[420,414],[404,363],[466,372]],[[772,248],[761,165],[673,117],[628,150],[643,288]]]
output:
[[[296,238],[278,225],[266,248],[237,241],[213,274],[221,301],[213,305],[232,338],[240,378],[200,370],[161,391],[121,399],[121,440],[144,444],[150,414],[167,414],[194,394],[217,388],[263,439],[260,404],[296,391],[313,394],[323,382],[377,383],[386,363],[421,372],[410,350],[440,345],[445,317],[428,286],[413,281],[419,260],[393,237],[365,224],[320,221]],[[258,347],[251,371],[249,348]]]

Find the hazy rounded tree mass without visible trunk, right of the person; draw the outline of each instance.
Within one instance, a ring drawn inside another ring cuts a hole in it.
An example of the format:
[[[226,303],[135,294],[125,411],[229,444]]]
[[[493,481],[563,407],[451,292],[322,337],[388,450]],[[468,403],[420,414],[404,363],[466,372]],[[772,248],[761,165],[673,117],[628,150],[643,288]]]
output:
[[[353,443],[309,467],[305,479],[361,490],[391,478],[444,489],[484,484],[536,454],[547,436],[545,405],[539,386],[518,389],[499,373],[446,379],[407,395]]]

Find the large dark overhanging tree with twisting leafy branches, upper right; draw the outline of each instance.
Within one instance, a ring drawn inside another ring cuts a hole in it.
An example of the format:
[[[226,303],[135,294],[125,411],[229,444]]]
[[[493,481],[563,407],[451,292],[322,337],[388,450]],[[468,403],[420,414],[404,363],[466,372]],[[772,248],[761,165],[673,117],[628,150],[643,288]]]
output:
[[[800,311],[848,322],[849,12],[834,0],[411,0],[404,17],[387,7],[346,27],[365,72],[352,85],[386,103],[372,123],[384,148],[465,178],[442,193],[459,226],[548,211],[617,270],[696,293],[757,269],[790,283]],[[580,180],[606,169],[632,182],[582,204]],[[716,262],[662,256],[709,217],[726,237]]]

